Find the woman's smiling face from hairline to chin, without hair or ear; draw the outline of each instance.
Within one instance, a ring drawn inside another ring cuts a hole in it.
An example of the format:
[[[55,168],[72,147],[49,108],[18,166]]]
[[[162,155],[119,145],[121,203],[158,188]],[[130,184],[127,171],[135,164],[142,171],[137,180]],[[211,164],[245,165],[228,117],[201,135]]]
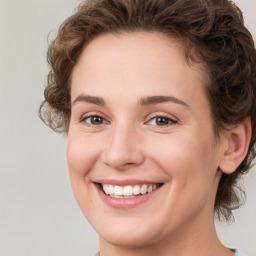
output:
[[[67,160],[77,202],[101,240],[149,245],[212,221],[223,150],[204,79],[158,33],[102,35],[82,52]]]

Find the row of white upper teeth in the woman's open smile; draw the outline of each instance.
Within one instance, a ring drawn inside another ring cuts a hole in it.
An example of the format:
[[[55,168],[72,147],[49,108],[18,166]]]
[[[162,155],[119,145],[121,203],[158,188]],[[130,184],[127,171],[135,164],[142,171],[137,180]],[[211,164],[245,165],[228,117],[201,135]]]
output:
[[[150,185],[134,185],[134,186],[114,186],[108,184],[102,184],[103,191],[110,196],[115,197],[123,197],[123,196],[135,196],[139,194],[146,194],[150,193],[151,191],[155,190],[159,187],[159,184],[150,184]]]

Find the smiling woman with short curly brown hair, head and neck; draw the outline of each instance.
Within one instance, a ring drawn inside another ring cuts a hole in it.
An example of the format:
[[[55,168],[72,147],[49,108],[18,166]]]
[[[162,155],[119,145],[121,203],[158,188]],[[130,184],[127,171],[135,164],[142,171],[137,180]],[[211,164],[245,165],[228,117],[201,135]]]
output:
[[[100,255],[241,255],[214,214],[255,157],[256,52],[227,0],[86,1],[51,43],[41,118],[68,135]]]

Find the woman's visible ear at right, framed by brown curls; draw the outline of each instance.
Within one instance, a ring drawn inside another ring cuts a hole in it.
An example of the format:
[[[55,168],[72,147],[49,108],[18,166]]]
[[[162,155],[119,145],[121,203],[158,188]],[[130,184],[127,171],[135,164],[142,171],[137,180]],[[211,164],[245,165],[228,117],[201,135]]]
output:
[[[226,174],[233,173],[244,160],[251,140],[251,119],[245,118],[241,123],[224,132],[223,154],[219,168]]]

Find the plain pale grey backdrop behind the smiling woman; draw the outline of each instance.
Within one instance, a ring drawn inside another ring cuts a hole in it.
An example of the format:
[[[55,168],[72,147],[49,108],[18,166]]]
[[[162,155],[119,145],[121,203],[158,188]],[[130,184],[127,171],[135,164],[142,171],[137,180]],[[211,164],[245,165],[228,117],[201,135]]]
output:
[[[48,33],[79,2],[0,0],[0,256],[90,256],[98,249],[71,191],[66,139],[37,115]],[[255,35],[256,1],[235,2]],[[245,178],[248,198],[235,223],[217,223],[221,240],[248,256],[256,256],[255,173]]]

